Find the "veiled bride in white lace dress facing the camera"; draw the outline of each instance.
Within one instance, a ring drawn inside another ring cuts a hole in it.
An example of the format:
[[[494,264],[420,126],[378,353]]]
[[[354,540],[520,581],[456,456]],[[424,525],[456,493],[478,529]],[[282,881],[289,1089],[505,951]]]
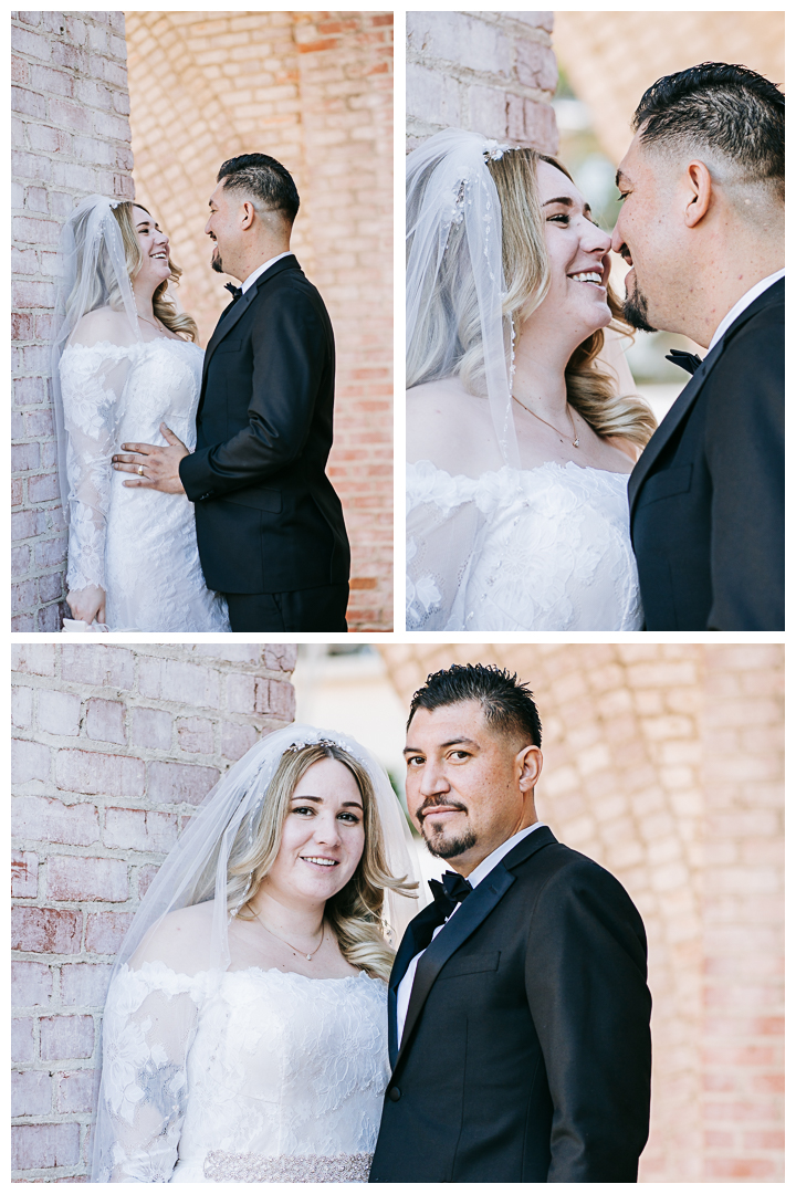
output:
[[[368,1181],[409,848],[343,734],[289,726],[223,776],[111,977],[92,1181]]]

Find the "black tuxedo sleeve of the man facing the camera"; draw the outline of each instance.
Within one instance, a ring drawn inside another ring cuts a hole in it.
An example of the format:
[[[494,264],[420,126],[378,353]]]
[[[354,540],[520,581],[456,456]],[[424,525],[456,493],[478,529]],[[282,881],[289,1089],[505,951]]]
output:
[[[525,986],[553,1100],[549,1182],[635,1182],[649,1131],[644,929],[588,860],[557,872],[531,922]]]

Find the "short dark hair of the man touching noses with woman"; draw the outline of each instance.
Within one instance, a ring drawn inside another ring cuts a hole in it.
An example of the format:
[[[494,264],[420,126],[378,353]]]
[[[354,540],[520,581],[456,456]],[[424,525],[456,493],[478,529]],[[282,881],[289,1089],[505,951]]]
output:
[[[703,62],[665,75],[641,97],[633,128],[644,146],[712,149],[784,202],[785,97],[748,67]]]

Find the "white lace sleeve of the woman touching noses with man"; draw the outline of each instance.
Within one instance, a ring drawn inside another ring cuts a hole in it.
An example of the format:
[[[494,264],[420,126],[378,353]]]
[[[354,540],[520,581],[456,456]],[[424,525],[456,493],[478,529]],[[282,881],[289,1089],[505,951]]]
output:
[[[483,517],[475,481],[428,461],[407,469],[406,628],[467,630],[464,592]]]

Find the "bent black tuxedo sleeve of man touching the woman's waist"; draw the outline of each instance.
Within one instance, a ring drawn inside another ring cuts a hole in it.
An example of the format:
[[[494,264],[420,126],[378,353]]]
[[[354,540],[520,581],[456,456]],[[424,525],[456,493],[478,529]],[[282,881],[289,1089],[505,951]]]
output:
[[[296,290],[258,295],[252,327],[248,425],[180,462],[191,501],[267,482],[302,453],[331,346],[311,300]]]

